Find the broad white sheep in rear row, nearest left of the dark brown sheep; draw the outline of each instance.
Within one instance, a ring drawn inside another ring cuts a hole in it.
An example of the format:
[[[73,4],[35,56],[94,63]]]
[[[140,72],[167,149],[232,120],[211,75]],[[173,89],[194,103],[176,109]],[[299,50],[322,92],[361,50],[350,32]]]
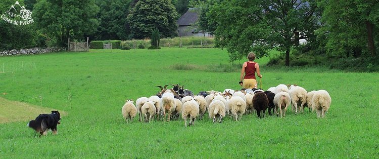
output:
[[[240,96],[233,96],[226,101],[225,107],[230,109],[235,121],[238,121],[246,111],[246,101]]]

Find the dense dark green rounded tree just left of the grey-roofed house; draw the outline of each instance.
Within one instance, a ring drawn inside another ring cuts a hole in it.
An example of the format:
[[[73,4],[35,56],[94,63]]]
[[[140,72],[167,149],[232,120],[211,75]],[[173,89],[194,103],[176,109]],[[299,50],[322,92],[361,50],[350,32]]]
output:
[[[177,18],[170,0],[139,0],[127,20],[131,36],[141,39],[150,37],[154,28],[158,28],[163,37],[176,36]]]

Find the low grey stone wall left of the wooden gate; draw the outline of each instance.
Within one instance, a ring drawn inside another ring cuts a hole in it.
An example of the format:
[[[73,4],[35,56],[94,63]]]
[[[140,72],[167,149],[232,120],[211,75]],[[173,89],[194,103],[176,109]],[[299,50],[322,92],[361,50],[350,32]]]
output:
[[[44,53],[52,53],[52,52],[60,52],[66,51],[66,48],[31,48],[31,49],[20,49],[20,50],[8,50],[0,52],[0,56],[15,56],[15,55],[34,55],[34,54],[44,54]]]

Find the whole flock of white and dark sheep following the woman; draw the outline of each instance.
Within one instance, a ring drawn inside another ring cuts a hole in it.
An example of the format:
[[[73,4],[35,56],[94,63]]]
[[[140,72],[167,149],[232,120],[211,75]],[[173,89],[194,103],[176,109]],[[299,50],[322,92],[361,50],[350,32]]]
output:
[[[161,87],[158,94],[151,97],[140,97],[136,100],[127,100],[122,107],[122,115],[126,122],[132,121],[138,114],[139,121],[151,122],[152,120],[178,120],[179,116],[185,121],[189,119],[189,126],[194,125],[196,117],[203,118],[208,110],[213,123],[222,122],[226,114],[235,121],[241,120],[245,113],[257,112],[258,117],[264,117],[268,113],[277,116],[286,116],[287,108],[292,103],[295,113],[304,112],[307,106],[309,111],[317,111],[317,117],[324,117],[330,107],[331,98],[327,91],[318,90],[307,92],[304,88],[296,85],[280,84],[271,87],[267,91],[261,89],[225,89],[223,92],[207,91],[194,95],[192,91],[184,90],[184,86],[173,85],[172,89],[167,86]],[[261,116],[262,112],[262,116]],[[155,119],[156,118],[156,119]]]

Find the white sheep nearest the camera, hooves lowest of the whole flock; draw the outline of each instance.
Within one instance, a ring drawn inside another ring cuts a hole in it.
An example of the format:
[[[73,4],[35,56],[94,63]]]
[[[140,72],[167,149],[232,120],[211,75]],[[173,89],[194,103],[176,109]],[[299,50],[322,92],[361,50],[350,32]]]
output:
[[[196,99],[187,101],[183,104],[181,117],[183,118],[184,126],[187,127],[187,117],[189,117],[188,126],[195,125],[196,116],[199,115],[199,103]]]

